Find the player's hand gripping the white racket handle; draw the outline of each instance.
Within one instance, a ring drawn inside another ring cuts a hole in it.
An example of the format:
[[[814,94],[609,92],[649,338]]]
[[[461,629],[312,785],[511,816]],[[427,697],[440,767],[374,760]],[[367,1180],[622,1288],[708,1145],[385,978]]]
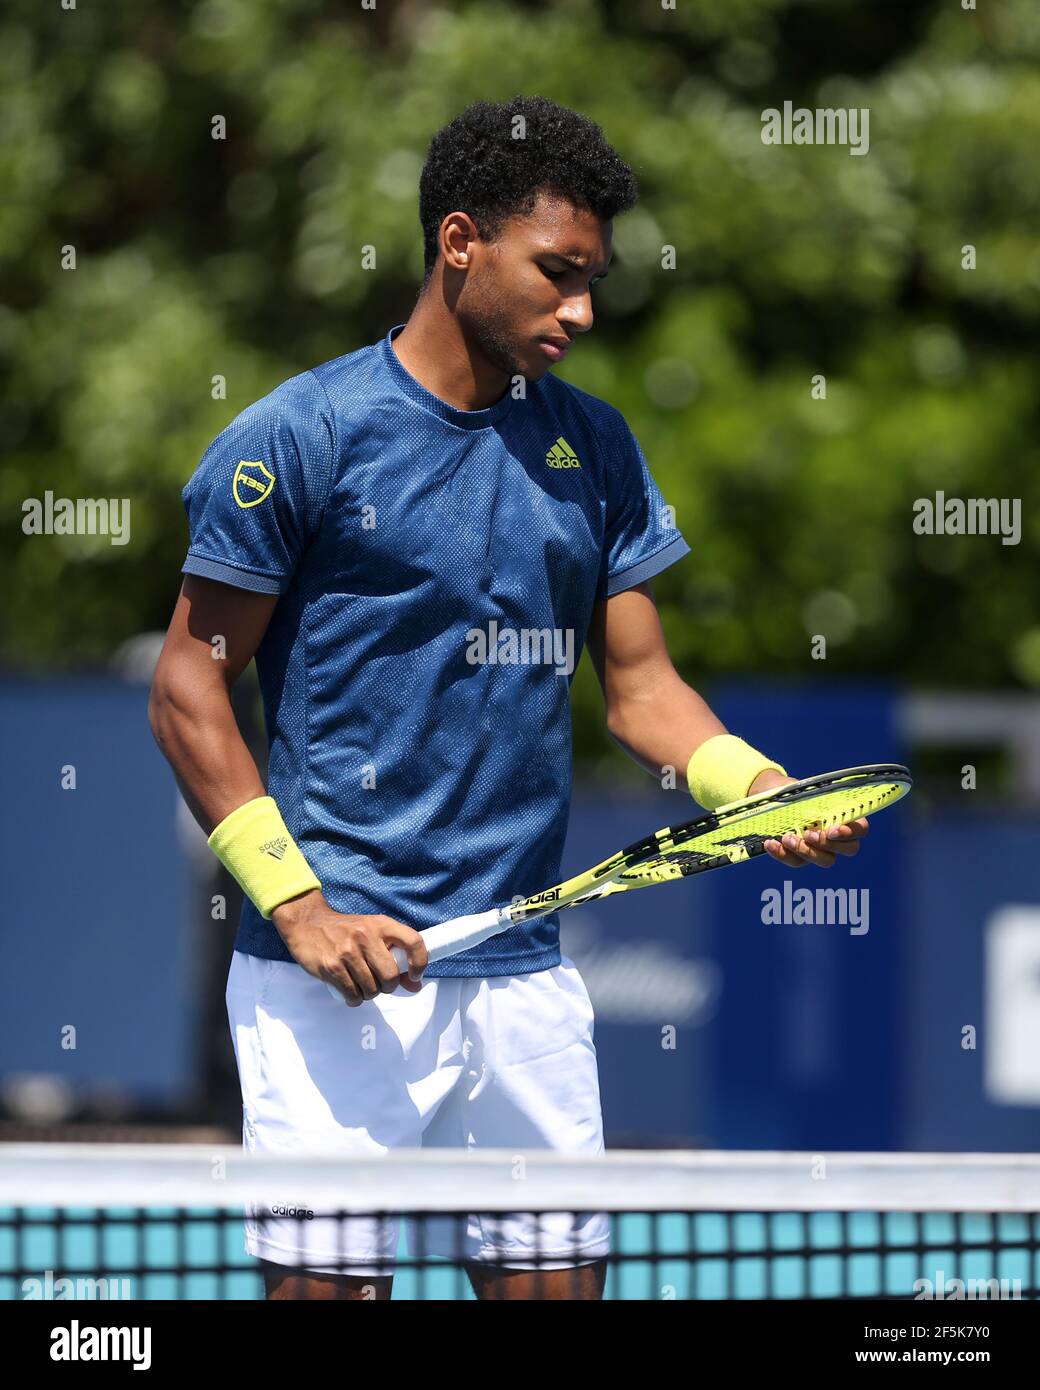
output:
[[[293,960],[339,990],[350,1008],[392,994],[398,986],[409,994],[421,990],[430,958],[421,933],[403,922],[381,913],[334,912],[317,890],[281,903],[271,920]],[[400,973],[391,947],[407,955],[407,974]]]

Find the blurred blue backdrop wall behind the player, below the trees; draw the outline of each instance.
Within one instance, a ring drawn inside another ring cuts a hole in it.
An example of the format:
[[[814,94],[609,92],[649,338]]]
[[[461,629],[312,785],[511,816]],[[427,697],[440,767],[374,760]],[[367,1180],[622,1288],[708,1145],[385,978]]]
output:
[[[712,699],[795,774],[904,756],[884,688]],[[202,1066],[213,926],[196,908],[146,692],[6,682],[0,728],[0,1087],[43,1077],[81,1097],[184,1108]],[[647,788],[578,788],[564,869],[695,812],[683,792]],[[612,1141],[1034,1150],[1036,831],[1009,816],[926,820],[911,796],[829,873],[759,860],[564,913],[564,952],[596,1005]],[[786,878],[866,892],[866,930],[765,923],[762,892]]]

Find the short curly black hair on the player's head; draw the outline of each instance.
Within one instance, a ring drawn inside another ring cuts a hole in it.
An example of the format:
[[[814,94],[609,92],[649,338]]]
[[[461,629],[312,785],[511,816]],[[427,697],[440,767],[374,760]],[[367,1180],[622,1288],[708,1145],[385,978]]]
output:
[[[469,213],[481,238],[494,240],[509,217],[533,210],[541,190],[588,208],[601,221],[624,213],[638,197],[635,175],[587,115],[544,96],[467,106],[430,142],[419,181],[424,284],[449,213]]]

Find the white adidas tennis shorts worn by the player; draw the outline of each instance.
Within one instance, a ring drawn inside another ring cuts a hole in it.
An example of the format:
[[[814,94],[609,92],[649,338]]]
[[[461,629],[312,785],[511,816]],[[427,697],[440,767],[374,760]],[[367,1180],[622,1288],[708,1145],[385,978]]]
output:
[[[300,966],[236,951],[228,1017],[242,1083],[243,1143],[278,1154],[393,1148],[599,1154],[603,1127],[592,1005],[571,960],[533,974],[427,980],[357,1008]],[[421,1180],[421,1175],[419,1175]],[[246,1248],[316,1273],[392,1273],[395,1218],[321,1216],[306,1191],[263,1194]],[[343,1173],[349,1202],[349,1168]],[[464,1209],[464,1190],[459,1193]],[[421,1211],[421,1191],[402,1209]],[[609,1251],[599,1213],[409,1223],[409,1252],[560,1269]],[[460,1244],[462,1241],[462,1244]]]

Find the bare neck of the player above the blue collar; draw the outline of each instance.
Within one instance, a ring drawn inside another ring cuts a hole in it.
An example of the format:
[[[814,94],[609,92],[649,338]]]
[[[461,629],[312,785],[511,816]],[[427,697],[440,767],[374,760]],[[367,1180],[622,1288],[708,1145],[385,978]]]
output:
[[[402,367],[456,410],[487,410],[509,389],[509,377],[470,352],[459,320],[423,295],[398,336],[393,352]]]

